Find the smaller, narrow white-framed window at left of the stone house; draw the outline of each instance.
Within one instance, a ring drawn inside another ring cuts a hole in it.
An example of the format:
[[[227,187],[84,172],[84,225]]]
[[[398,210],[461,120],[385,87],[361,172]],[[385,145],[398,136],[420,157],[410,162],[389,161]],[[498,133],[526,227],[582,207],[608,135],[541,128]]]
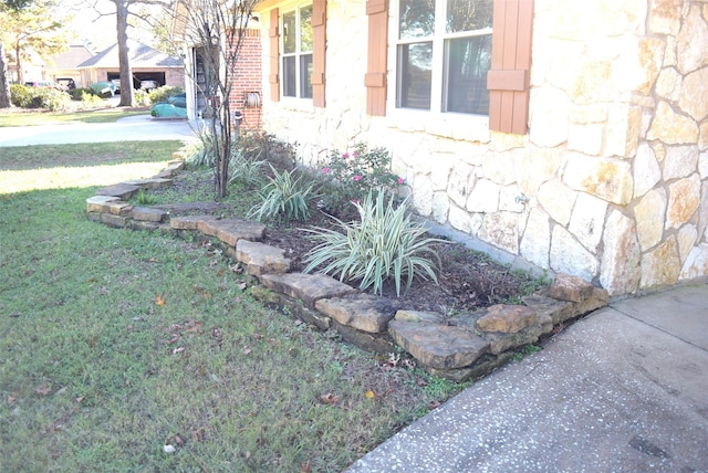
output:
[[[312,98],[312,4],[282,15],[282,94]]]

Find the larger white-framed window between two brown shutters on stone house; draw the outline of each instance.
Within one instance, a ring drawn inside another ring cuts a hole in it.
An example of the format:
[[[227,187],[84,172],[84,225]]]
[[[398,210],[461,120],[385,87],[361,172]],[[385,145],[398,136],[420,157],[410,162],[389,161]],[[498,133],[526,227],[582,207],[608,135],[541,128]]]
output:
[[[492,0],[399,0],[396,106],[488,115]]]

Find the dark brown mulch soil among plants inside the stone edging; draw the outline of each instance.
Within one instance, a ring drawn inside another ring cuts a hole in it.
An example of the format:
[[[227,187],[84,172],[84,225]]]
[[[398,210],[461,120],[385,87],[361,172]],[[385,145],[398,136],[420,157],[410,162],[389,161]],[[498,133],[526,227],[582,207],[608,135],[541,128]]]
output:
[[[187,172],[190,171],[184,171],[175,179],[170,193],[177,191],[177,195],[187,195],[196,186],[214,187],[208,176],[197,180],[194,176],[185,179]],[[226,202],[226,206],[223,213],[228,216],[229,203]],[[238,212],[233,212],[231,217],[243,218]],[[309,233],[301,229],[309,225],[322,227],[326,222],[324,216],[315,213],[311,222],[269,224],[266,243],[285,250],[287,256],[292,260],[292,270],[301,271],[305,266],[308,251],[315,245]],[[384,288],[383,295],[402,301],[409,309],[454,315],[499,303],[518,303],[521,295],[533,292],[539,285],[538,280],[532,276],[512,272],[487,254],[472,251],[461,243],[436,243],[434,249],[440,257],[438,284],[416,280],[410,291],[400,297],[396,296],[395,286],[391,284]],[[348,283],[357,286],[356,282]]]

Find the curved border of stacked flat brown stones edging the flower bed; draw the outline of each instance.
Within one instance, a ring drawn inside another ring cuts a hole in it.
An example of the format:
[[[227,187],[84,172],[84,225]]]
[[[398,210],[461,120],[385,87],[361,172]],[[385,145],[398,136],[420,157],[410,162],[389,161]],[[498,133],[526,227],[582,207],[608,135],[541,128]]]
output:
[[[284,250],[262,243],[266,225],[214,216],[210,212],[220,209],[216,202],[155,207],[127,202],[140,189],[171,185],[173,176],[184,166],[184,159],[173,159],[154,178],[98,189],[86,199],[87,218],[114,228],[214,236],[229,257],[259,281],[251,295],[262,303],[288,307],[299,319],[321,330],[333,328],[365,350],[387,354],[397,345],[431,375],[456,381],[485,376],[521,347],[608,303],[605,290],[558,274],[551,286],[522,297],[522,306],[498,304],[447,318],[405,309],[397,301],[362,293],[324,274],[291,273]],[[180,216],[191,211],[204,213]]]

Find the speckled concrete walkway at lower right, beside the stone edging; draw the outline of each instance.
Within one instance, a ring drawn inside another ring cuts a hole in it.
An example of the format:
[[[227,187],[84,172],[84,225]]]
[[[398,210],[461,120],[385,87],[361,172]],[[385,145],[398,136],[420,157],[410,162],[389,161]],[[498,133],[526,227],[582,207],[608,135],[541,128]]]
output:
[[[708,472],[708,282],[611,304],[350,472]]]

